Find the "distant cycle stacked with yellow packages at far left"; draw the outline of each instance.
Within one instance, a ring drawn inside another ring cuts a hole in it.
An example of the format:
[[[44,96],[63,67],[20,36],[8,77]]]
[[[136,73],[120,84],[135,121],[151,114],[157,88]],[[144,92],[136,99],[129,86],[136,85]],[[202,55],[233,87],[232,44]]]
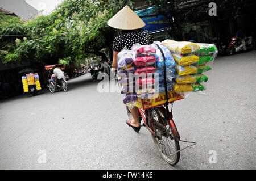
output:
[[[35,95],[41,90],[38,73],[29,73],[26,76],[22,76],[23,92]]]

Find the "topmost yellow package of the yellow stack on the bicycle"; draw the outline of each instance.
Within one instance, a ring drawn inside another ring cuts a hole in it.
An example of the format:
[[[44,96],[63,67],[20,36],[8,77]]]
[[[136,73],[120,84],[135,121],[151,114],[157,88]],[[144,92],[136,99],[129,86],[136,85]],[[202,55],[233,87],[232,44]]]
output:
[[[164,40],[162,41],[162,44],[168,47],[171,53],[177,53],[177,54],[192,53],[200,48],[199,45],[196,45],[189,41]]]

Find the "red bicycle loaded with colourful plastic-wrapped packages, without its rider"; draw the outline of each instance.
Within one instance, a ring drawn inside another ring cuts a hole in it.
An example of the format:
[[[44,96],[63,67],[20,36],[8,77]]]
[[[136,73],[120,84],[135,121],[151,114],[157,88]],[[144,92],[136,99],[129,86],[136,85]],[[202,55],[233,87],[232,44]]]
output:
[[[131,109],[138,108],[139,120],[154,140],[162,158],[175,165],[180,151],[195,142],[183,141],[172,116],[172,106],[189,93],[205,94],[204,75],[217,56],[213,44],[186,41],[155,41],[151,45],[135,44],[118,53],[118,84],[129,119]],[[168,105],[171,104],[171,109]],[[179,142],[189,144],[180,148]]]

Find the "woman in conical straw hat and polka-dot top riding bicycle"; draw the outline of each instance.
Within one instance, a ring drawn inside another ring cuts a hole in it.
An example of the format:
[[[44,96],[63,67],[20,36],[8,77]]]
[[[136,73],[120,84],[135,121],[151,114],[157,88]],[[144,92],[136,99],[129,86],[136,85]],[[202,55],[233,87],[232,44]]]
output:
[[[113,41],[112,72],[117,70],[117,54],[123,48],[131,49],[134,44],[149,45],[154,41],[148,31],[142,30],[142,27],[145,26],[143,20],[127,5],[108,21],[108,25],[122,31],[121,35],[115,37]],[[139,123],[138,108],[130,108],[130,112],[133,119],[126,120],[126,123],[134,131],[139,132],[141,124]]]

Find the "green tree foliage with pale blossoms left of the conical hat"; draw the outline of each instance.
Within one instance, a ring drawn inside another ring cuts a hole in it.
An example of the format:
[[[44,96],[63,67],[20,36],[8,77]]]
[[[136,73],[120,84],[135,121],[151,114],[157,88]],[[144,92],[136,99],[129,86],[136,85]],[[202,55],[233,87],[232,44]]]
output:
[[[115,0],[65,0],[50,15],[28,21],[0,14],[1,62],[69,64],[102,55],[114,31],[106,22],[121,6]]]

